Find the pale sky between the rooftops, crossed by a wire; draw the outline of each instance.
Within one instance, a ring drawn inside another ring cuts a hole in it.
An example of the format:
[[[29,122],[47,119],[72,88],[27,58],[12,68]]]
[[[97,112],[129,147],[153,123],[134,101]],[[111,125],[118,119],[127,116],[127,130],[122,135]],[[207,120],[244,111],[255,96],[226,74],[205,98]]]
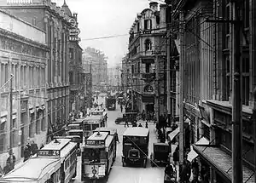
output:
[[[52,0],[61,6],[64,0]],[[149,8],[148,0],[66,0],[73,13],[78,13],[80,45],[100,49],[108,57],[108,66],[121,62],[128,52],[129,31],[137,13]],[[86,40],[95,37],[121,37]]]

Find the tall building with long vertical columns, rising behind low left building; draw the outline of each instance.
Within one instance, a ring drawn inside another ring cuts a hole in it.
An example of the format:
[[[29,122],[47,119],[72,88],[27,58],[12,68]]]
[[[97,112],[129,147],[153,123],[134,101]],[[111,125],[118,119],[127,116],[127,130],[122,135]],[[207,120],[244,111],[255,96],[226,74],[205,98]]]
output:
[[[72,26],[69,22],[71,11],[65,1],[62,7],[50,0],[6,0],[0,5],[46,32],[46,42],[50,47],[47,63],[48,134],[61,133],[69,113],[67,43],[68,30]]]

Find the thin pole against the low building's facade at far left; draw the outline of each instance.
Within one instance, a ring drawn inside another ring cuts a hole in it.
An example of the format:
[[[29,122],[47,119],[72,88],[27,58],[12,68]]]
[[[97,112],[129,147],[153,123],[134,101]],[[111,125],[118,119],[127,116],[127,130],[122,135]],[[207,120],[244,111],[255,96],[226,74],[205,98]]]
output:
[[[11,74],[9,80],[9,151],[13,151],[13,77]],[[10,163],[13,164],[13,156],[10,156]]]

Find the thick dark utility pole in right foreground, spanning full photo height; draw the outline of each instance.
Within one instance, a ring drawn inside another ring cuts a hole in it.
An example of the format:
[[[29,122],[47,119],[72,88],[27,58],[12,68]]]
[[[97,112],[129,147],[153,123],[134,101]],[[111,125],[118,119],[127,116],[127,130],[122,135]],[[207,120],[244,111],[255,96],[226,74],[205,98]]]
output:
[[[233,84],[232,84],[232,182],[242,182],[242,124],[241,124],[241,49],[240,49],[240,11],[236,1],[231,2],[232,20],[232,62]]]

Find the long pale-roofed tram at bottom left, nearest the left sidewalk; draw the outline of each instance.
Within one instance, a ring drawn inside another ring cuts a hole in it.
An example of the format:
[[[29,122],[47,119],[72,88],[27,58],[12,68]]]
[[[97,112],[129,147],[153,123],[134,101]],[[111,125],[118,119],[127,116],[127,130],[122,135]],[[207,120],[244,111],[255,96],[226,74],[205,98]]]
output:
[[[77,144],[70,139],[55,139],[38,150],[37,157],[28,159],[9,174],[1,183],[67,183],[77,173]]]

